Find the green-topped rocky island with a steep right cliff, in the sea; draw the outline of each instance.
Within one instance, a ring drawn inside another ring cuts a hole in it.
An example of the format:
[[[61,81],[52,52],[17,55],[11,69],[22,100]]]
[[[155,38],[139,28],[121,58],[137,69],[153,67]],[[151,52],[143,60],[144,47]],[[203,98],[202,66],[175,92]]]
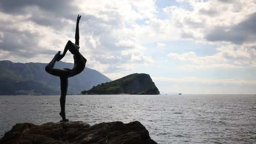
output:
[[[112,82],[93,86],[82,94],[131,94],[131,95],[158,95],[159,90],[148,74],[131,74]]]

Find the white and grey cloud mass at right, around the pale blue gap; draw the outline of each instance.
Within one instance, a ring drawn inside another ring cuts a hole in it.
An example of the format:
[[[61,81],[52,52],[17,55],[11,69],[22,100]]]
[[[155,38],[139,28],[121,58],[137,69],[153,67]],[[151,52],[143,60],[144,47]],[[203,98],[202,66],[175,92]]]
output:
[[[196,43],[217,45],[212,56],[197,56],[195,52],[168,54],[192,65],[180,69],[216,69],[254,67],[256,63],[256,2],[254,0],[177,0],[187,2],[192,10],[181,7],[165,7],[171,22],[181,29],[181,39]]]

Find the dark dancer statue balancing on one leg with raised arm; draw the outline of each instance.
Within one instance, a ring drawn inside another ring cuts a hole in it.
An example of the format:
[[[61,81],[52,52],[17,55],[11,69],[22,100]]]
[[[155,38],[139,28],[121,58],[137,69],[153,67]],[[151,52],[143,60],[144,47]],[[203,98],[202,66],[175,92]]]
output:
[[[66,104],[66,94],[68,90],[68,78],[75,76],[82,72],[85,69],[85,63],[86,59],[82,56],[82,54],[79,52],[79,21],[81,19],[81,16],[77,16],[76,21],[76,28],[75,28],[75,43],[72,43],[70,40],[65,46],[65,49],[62,54],[60,54],[60,51],[57,52],[57,54],[53,57],[52,61],[49,62],[48,65],[46,65],[45,70],[51,75],[59,76],[60,78],[60,113],[59,115],[62,117],[62,121],[69,121],[66,119],[66,113],[65,113],[65,104]],[[74,67],[72,69],[64,68],[64,69],[54,69],[54,65],[56,61],[61,60],[65,55],[66,52],[69,50],[74,56]],[[62,122],[61,121],[61,122]]]

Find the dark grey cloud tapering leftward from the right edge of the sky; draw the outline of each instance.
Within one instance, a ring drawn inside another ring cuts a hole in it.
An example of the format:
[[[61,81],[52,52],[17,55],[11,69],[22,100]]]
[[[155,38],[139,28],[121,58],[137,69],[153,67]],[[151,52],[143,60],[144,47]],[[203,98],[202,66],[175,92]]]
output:
[[[215,27],[205,36],[208,41],[227,41],[234,44],[255,42],[256,13],[253,13],[241,23],[232,27]]]

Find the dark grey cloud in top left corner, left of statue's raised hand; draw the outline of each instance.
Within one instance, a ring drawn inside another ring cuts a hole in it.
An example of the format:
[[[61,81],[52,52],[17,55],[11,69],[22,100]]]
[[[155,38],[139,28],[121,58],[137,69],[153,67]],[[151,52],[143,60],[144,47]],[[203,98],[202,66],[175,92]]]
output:
[[[0,0],[0,11],[11,15],[30,14],[28,20],[57,29],[67,24],[62,18],[75,21],[79,14],[70,0]]]

